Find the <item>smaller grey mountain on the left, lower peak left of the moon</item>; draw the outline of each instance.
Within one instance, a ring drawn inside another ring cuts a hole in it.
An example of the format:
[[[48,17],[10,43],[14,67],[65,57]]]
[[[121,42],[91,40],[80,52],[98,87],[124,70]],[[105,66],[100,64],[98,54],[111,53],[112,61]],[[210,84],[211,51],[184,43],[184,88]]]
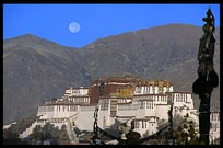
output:
[[[4,41],[3,121],[34,114],[66,88],[86,83],[81,61],[77,49],[33,35]]]

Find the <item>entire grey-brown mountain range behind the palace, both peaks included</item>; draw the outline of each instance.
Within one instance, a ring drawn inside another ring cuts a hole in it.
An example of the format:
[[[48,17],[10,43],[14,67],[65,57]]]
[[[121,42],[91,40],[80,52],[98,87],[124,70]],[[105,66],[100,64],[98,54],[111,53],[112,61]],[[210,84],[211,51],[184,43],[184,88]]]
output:
[[[168,24],[113,35],[72,48],[26,34],[3,41],[3,122],[36,113],[66,88],[90,87],[99,77],[126,73],[171,79],[175,91],[190,91],[197,79],[200,26]],[[215,31],[214,68],[220,76],[220,29]],[[212,109],[220,109],[220,87]],[[195,98],[198,109],[199,99]]]

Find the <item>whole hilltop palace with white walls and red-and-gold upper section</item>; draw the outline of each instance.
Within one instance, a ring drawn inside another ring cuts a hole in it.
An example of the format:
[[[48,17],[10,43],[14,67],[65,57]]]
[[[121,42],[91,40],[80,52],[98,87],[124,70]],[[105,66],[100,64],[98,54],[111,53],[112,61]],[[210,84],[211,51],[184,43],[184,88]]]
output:
[[[139,77],[109,77],[95,80],[91,88],[68,88],[59,99],[38,106],[39,118],[20,137],[27,137],[36,125],[47,122],[61,128],[67,125],[70,139],[78,141],[73,126],[93,132],[94,112],[98,107],[97,125],[103,128],[127,123],[134,132],[152,135],[159,123],[168,122],[173,103],[173,116],[188,116],[198,129],[198,111],[190,92],[176,92],[169,80],[142,80]],[[211,113],[210,140],[220,137],[220,113]]]

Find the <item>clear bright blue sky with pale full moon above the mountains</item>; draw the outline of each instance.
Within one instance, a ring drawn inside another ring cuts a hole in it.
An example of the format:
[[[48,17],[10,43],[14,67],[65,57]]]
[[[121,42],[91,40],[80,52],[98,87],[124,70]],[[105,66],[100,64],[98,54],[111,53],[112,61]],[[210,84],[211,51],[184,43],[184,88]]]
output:
[[[220,26],[220,4],[3,4],[3,39],[24,34],[69,47],[98,38],[173,23],[202,26],[211,8]],[[71,25],[70,25],[71,24]]]

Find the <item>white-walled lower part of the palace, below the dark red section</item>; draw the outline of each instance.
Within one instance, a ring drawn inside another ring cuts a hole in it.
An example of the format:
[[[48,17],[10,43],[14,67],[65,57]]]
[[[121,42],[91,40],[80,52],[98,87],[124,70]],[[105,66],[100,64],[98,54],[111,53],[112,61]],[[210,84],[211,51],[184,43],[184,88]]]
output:
[[[178,100],[178,95],[185,96],[184,100]],[[74,98],[78,100],[81,95]],[[71,96],[69,96],[71,98]],[[67,99],[67,98],[66,98]],[[126,122],[132,119],[134,122],[134,130],[143,134],[153,134],[157,132],[157,119],[168,121],[168,111],[171,101],[177,102],[174,104],[174,114],[189,114],[193,111],[191,103],[191,94],[185,92],[169,92],[167,94],[137,94],[131,101],[120,101],[119,98],[99,99],[98,104],[75,104],[75,101],[66,100],[63,102],[56,101],[55,103],[46,103],[38,107],[38,115],[43,115],[42,119],[60,121],[77,114],[74,124],[82,130],[93,130],[94,112],[98,106],[97,125],[105,129],[109,128],[115,121]],[[176,112],[176,109],[181,111]],[[176,112],[176,113],[175,113]]]

